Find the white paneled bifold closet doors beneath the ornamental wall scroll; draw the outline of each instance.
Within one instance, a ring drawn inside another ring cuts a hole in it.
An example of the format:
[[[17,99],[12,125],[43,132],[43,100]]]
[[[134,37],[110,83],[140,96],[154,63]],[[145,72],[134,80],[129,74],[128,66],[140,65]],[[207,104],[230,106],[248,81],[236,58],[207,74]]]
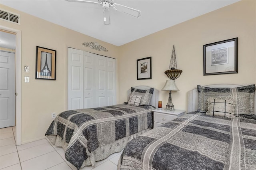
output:
[[[116,59],[68,47],[68,110],[116,104]]]

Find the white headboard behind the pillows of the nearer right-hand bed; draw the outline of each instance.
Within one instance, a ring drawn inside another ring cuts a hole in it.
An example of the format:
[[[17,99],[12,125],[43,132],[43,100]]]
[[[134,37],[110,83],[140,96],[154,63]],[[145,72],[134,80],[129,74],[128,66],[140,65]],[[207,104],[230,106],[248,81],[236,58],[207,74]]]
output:
[[[241,87],[243,85],[232,85],[232,84],[216,84],[216,85],[205,85],[205,87],[212,88],[234,88]],[[254,101],[256,101],[256,95],[254,97]],[[188,112],[197,111],[198,109],[198,92],[197,88],[188,91]],[[256,114],[256,102],[254,102],[254,114]]]

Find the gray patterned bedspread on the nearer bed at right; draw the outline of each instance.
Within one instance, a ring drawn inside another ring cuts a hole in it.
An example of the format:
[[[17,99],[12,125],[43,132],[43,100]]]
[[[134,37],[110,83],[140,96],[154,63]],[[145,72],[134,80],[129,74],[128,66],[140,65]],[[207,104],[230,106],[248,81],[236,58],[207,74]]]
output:
[[[239,169],[256,170],[255,117],[196,112],[131,140],[118,162],[118,170]]]

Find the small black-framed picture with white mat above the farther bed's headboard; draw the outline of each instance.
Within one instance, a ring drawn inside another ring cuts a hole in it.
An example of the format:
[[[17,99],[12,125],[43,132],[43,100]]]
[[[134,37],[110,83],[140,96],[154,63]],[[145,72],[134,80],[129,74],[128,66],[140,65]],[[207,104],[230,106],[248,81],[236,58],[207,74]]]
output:
[[[137,59],[137,80],[152,79],[151,57]]]

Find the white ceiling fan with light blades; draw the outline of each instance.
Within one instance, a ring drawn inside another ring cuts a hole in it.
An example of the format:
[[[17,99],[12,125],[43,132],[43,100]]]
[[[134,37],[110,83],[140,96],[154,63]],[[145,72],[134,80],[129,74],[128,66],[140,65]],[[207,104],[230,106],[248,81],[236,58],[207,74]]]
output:
[[[103,7],[103,20],[105,25],[110,24],[110,17],[109,17],[109,8],[113,7],[114,10],[123,12],[125,14],[128,14],[130,16],[134,16],[136,18],[140,17],[140,10],[136,10],[134,8],[130,8],[124,5],[116,4],[113,2],[113,0],[98,0],[98,2],[93,1],[87,1],[87,0],[66,0],[69,2],[84,2],[84,3],[90,3],[90,4],[99,4]]]

